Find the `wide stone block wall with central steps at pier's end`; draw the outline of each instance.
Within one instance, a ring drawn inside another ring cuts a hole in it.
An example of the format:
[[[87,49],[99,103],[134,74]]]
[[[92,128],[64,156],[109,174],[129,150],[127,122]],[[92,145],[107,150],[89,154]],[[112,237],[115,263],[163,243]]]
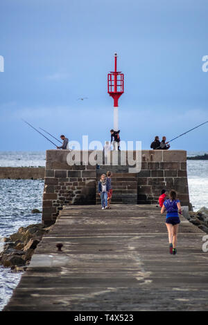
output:
[[[100,175],[112,171],[114,203],[154,204],[163,188],[175,189],[182,205],[189,205],[187,180],[187,151],[143,150],[141,171],[129,173],[125,151],[112,151],[110,165],[89,165],[85,151],[81,151],[81,163],[67,163],[68,150],[46,151],[46,174],[43,194],[44,223],[55,222],[63,205],[90,205],[98,203],[97,183]],[[100,154],[101,151],[100,151]],[[112,165],[112,156],[118,155],[118,163]],[[135,151],[132,151],[135,158]],[[121,165],[126,161],[126,165]]]

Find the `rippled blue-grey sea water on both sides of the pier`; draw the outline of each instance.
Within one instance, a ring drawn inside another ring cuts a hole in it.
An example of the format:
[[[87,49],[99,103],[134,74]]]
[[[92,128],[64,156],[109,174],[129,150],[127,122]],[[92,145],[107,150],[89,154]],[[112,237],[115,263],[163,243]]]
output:
[[[188,152],[197,156],[205,152]],[[43,151],[1,151],[0,167],[39,167],[45,165]],[[208,207],[208,160],[187,160],[189,196],[193,210]],[[0,180],[0,239],[9,236],[20,227],[41,222],[41,214],[31,210],[42,210],[44,180]],[[0,250],[3,241],[0,241]],[[0,266],[0,310],[5,306],[21,278],[21,272],[11,272]]]

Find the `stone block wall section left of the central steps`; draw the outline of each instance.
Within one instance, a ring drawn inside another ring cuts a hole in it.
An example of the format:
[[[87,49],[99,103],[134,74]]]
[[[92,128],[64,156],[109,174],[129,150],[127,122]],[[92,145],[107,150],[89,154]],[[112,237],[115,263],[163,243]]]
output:
[[[95,204],[96,166],[67,163],[68,150],[47,150],[42,220],[55,222],[63,205]]]

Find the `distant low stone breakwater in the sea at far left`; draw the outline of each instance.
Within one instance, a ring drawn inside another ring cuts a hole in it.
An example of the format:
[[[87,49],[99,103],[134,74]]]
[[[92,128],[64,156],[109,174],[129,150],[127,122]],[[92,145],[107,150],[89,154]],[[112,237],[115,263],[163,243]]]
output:
[[[0,179],[44,179],[45,167],[0,167]]]

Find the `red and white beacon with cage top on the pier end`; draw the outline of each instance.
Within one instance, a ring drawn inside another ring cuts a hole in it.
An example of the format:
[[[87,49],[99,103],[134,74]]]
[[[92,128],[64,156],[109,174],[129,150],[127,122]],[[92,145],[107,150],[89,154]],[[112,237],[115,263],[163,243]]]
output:
[[[107,93],[114,99],[114,131],[119,130],[119,97],[123,94],[123,73],[117,71],[117,53],[114,71],[107,74]]]

